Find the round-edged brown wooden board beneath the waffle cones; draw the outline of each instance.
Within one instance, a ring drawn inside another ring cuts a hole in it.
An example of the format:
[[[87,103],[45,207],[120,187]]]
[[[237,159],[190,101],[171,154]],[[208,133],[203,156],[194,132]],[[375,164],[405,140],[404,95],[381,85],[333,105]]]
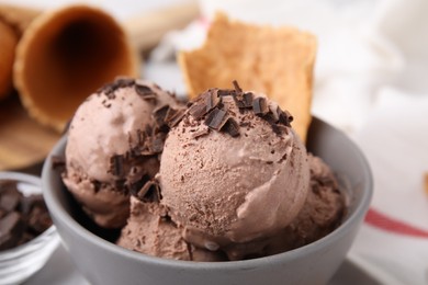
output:
[[[41,162],[60,138],[29,117],[16,94],[0,101],[0,170]]]

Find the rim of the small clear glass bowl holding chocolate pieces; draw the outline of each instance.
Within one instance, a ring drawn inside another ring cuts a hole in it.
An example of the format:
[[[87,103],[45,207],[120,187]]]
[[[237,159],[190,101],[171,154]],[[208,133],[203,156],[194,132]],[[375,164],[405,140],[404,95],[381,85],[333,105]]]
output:
[[[0,181],[3,180],[14,180],[14,181],[33,184],[37,186],[37,189],[40,190],[40,194],[43,194],[44,192],[42,189],[42,179],[36,175],[21,173],[16,171],[0,171]],[[45,242],[50,241],[52,240],[49,239],[50,236],[52,237],[56,236],[56,227],[54,224],[50,227],[48,227],[45,231],[43,231],[41,235],[35,237],[34,239],[25,243],[22,243],[18,247],[0,251],[0,262],[11,260],[21,256],[22,254],[25,254],[27,250],[33,247],[33,244],[37,244],[42,240],[45,240]]]

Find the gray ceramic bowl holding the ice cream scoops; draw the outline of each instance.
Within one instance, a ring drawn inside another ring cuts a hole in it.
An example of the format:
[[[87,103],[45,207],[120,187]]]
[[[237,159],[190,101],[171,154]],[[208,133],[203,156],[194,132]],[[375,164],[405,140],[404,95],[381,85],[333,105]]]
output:
[[[246,261],[189,262],[148,256],[120,248],[78,209],[53,169],[53,156],[64,156],[66,137],[47,158],[42,181],[50,215],[78,270],[92,284],[325,284],[343,261],[369,208],[372,176],[369,164],[349,138],[314,118],[308,150],[345,178],[350,197],[343,224],[305,247]],[[102,238],[103,237],[103,238]]]

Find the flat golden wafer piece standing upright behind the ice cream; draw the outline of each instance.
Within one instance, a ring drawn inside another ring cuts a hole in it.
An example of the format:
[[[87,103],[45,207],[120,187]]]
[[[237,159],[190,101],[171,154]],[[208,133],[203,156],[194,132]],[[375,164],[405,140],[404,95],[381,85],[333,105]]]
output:
[[[293,27],[233,22],[218,13],[204,45],[180,52],[178,59],[190,98],[209,88],[263,92],[291,112],[293,128],[305,141],[311,123],[316,38]]]

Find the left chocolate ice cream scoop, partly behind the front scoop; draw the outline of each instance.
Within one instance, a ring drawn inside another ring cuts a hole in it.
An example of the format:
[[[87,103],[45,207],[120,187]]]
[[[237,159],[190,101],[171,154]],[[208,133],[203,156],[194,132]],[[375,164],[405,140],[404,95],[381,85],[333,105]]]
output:
[[[161,118],[180,109],[158,86],[117,79],[77,110],[66,148],[64,182],[100,226],[124,226],[129,193],[159,169],[166,130]]]

